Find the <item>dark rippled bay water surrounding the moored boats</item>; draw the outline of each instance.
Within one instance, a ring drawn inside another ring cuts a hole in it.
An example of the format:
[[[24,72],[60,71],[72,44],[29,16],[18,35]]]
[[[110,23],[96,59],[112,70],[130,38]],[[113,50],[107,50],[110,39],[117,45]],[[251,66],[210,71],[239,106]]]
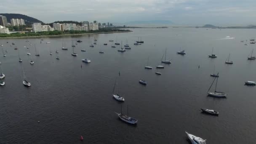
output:
[[[5,86],[0,88],[0,143],[2,144],[188,144],[188,131],[210,144],[253,144],[256,141],[256,89],[244,81],[256,81],[256,61],[247,56],[256,45],[243,45],[240,40],[255,36],[254,29],[132,29],[118,34],[84,35],[0,40],[6,57],[0,56],[0,67],[5,74]],[[111,42],[125,39],[132,46],[125,53],[111,48]],[[222,38],[235,37],[234,39]],[[89,45],[98,39],[96,47]],[[137,37],[145,41],[133,45]],[[83,40],[71,56],[72,40]],[[7,44],[6,42],[9,42]],[[45,44],[51,41],[51,44]],[[32,86],[22,84],[18,51],[10,47],[16,43],[23,59],[24,72]],[[68,51],[61,50],[66,42]],[[40,53],[35,57],[34,43]],[[108,43],[108,45],[103,45]],[[34,65],[29,64],[29,46]],[[99,53],[102,45],[104,54]],[[81,52],[83,47],[86,52]],[[163,52],[172,64],[160,69]],[[176,54],[179,47],[187,54]],[[211,48],[218,55],[209,59]],[[53,56],[50,56],[50,48]],[[55,59],[55,50],[60,60]],[[233,65],[224,64],[231,53]],[[149,65],[152,70],[144,69]],[[90,58],[91,64],[81,59]],[[82,64],[82,68],[81,68]],[[207,96],[213,81],[213,66],[219,72],[218,90],[228,94],[227,99]],[[200,65],[200,69],[198,69]],[[120,71],[120,76],[118,75]],[[124,95],[123,112],[129,104],[129,115],[139,120],[136,127],[117,118],[120,103],[112,98],[112,89],[118,77],[119,92]],[[147,80],[143,86],[138,80]],[[200,108],[215,109],[219,117],[204,115]],[[40,123],[37,121],[40,120]]]

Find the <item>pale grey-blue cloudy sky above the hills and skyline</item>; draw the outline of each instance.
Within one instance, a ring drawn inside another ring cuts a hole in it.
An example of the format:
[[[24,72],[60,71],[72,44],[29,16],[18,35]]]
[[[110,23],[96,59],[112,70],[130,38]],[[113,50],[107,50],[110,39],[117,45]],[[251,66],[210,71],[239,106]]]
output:
[[[168,20],[174,24],[256,24],[256,0],[1,0],[0,13],[53,21]]]

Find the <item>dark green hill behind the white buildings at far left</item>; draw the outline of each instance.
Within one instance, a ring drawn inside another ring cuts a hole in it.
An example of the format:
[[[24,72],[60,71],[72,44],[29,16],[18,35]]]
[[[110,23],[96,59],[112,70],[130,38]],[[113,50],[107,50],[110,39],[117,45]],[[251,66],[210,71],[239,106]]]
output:
[[[30,16],[26,16],[24,14],[19,14],[19,13],[0,13],[0,15],[6,16],[6,19],[9,23],[11,23],[11,19],[24,19],[25,24],[43,23],[38,19],[32,18]]]

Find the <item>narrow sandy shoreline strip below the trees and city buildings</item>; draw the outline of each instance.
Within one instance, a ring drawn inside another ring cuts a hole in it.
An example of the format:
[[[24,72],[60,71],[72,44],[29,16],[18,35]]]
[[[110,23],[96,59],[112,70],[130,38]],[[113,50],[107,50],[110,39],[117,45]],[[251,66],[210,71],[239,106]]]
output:
[[[133,32],[131,30],[125,30],[120,32]],[[39,37],[63,37],[69,35],[93,35],[93,34],[111,34],[111,33],[120,33],[120,32],[95,32],[95,33],[83,33],[83,34],[63,34],[63,35],[40,35],[40,36],[22,36],[22,37],[0,37],[0,39],[18,39],[18,38],[39,38]]]

